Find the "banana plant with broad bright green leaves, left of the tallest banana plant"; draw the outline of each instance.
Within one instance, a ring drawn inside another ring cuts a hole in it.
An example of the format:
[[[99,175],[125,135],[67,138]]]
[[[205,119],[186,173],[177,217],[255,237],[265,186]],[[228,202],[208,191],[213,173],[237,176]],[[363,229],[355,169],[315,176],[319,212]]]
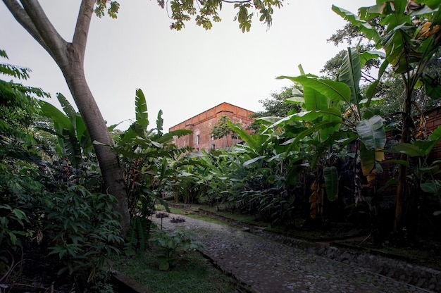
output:
[[[377,100],[372,99],[372,96],[361,94],[359,83],[364,63],[369,58],[380,56],[381,54],[377,52],[359,54],[356,49],[347,49],[337,80],[328,80],[314,75],[278,77],[287,78],[303,87],[302,108],[304,111],[292,113],[284,120],[275,123],[277,125],[280,122],[301,121],[307,125],[304,132],[292,137],[287,142],[290,143],[288,151],[298,148],[302,142],[314,142],[318,151],[311,162],[313,162],[312,167],[316,168],[319,161],[322,160],[323,163],[324,158],[330,158],[332,151],[329,150],[335,146],[336,141],[347,146],[350,142],[358,139],[361,144],[355,156],[361,158],[363,173],[365,176],[375,174],[375,161],[382,159],[381,154],[383,153],[378,153],[378,150],[383,149],[385,145],[385,129],[383,119],[380,116],[369,116],[368,111],[363,111],[372,101],[376,102]],[[296,101],[299,99],[297,98]],[[328,148],[328,151],[325,148]],[[336,200],[338,194],[337,169],[329,161],[325,163],[323,172],[319,173],[324,176],[328,199],[330,201]],[[360,180],[357,177],[354,180],[356,180],[356,188],[361,189]],[[317,192],[318,190],[313,194]],[[362,199],[361,190],[356,190],[354,194],[356,194],[356,202]],[[319,199],[319,197],[317,198]]]

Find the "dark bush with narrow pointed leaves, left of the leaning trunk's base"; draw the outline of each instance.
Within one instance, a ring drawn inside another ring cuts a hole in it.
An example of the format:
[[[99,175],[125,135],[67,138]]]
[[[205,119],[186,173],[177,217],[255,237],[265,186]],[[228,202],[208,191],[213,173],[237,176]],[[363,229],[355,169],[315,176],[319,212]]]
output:
[[[52,194],[46,202],[47,220],[44,230],[51,235],[54,246],[49,255],[56,254],[63,263],[59,274],[89,272],[94,279],[104,265],[105,257],[118,253],[119,214],[114,210],[115,197],[92,194],[84,187],[73,185],[65,192]]]

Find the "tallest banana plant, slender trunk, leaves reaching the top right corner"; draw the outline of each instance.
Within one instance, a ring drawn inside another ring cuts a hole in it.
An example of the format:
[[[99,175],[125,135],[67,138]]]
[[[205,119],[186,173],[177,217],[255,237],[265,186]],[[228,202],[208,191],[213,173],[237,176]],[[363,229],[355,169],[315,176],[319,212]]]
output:
[[[368,39],[376,43],[378,49],[385,51],[385,62],[380,74],[387,66],[401,75],[404,85],[401,143],[411,142],[412,108],[417,107],[414,92],[420,87],[433,98],[441,96],[441,86],[436,78],[425,72],[426,66],[441,44],[441,4],[439,1],[406,0],[377,1],[374,6],[359,8],[358,15],[333,6],[333,11],[353,25],[359,27]],[[377,18],[385,26],[384,32],[378,32],[368,24],[368,20]],[[380,75],[378,77],[380,80]],[[408,154],[402,153],[401,161],[408,161]],[[395,208],[395,232],[401,232],[403,226],[404,197],[406,190],[406,164],[399,165],[397,183],[397,204]]]

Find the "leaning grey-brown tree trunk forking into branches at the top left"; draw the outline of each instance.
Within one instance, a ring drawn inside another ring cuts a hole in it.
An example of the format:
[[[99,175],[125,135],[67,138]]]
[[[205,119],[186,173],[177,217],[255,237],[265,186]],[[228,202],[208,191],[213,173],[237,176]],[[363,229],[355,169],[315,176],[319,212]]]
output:
[[[20,0],[20,3],[17,0],[3,1],[18,23],[54,58],[66,79],[78,111],[85,120],[92,141],[101,143],[94,144],[94,149],[104,179],[104,192],[118,199],[116,208],[121,214],[121,236],[125,237],[130,228],[130,214],[123,173],[118,156],[111,149],[112,139],[87,85],[84,72],[87,35],[95,0],[82,0],[72,43],[66,42],[58,34],[37,0]]]

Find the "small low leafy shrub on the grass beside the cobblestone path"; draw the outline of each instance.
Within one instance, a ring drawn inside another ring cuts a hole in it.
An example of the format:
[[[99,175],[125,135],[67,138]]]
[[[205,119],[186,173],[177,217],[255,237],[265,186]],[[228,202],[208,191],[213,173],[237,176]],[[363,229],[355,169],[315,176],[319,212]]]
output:
[[[190,230],[175,232],[159,230],[151,237],[154,247],[159,248],[159,270],[170,270],[176,266],[182,253],[204,249],[204,244],[194,240]]]

